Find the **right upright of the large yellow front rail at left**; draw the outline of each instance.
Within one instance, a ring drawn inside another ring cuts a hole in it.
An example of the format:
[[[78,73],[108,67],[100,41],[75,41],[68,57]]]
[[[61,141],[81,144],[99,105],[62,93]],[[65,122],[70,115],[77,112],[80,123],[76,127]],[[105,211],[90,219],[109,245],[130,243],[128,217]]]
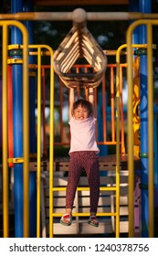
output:
[[[19,22],[23,32],[23,155],[24,155],[24,237],[29,237],[29,83],[28,83],[28,32]]]

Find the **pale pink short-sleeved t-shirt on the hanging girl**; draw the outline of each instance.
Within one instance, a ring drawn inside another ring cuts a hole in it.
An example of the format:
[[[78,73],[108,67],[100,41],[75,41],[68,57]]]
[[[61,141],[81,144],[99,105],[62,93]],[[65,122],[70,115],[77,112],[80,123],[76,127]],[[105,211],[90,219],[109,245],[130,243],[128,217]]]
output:
[[[69,121],[71,143],[69,153],[74,151],[95,151],[100,152],[95,139],[96,119],[90,116],[84,120],[77,120],[72,117]]]

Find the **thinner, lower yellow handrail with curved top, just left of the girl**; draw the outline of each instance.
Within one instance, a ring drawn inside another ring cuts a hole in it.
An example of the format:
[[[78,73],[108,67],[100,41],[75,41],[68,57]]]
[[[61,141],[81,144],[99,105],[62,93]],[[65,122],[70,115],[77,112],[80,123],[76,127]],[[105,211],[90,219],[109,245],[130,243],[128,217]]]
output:
[[[34,52],[37,55],[37,238],[40,238],[40,195],[41,195],[41,57],[42,50],[45,48],[49,54],[47,56],[50,59],[50,136],[49,136],[49,172],[53,172],[54,164],[54,71],[53,71],[53,50],[47,45],[29,45],[29,48],[37,48],[37,52]],[[53,183],[53,176],[50,178],[50,186]],[[53,198],[52,193],[49,194],[50,199],[50,208],[52,208]],[[52,203],[51,203],[52,202]],[[51,221],[51,219],[50,219]]]

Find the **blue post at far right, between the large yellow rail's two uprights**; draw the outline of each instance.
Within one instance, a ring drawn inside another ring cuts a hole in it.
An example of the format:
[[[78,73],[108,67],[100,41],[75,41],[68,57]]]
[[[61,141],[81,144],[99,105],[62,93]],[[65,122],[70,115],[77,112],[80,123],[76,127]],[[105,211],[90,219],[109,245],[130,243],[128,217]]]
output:
[[[151,13],[151,0],[139,0],[142,13]],[[140,27],[140,43],[147,43],[146,26]],[[148,88],[147,88],[147,56],[142,55],[140,65],[141,82],[141,184],[142,184],[142,237],[148,237]]]

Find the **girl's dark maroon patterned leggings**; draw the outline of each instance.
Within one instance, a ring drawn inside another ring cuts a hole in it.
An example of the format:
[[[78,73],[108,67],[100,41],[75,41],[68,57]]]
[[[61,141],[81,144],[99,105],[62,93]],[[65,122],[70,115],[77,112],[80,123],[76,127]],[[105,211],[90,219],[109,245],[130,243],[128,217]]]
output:
[[[73,208],[79,177],[84,169],[90,185],[90,212],[97,213],[100,197],[99,160],[95,152],[72,152],[69,161],[68,186],[66,192],[66,208]]]

